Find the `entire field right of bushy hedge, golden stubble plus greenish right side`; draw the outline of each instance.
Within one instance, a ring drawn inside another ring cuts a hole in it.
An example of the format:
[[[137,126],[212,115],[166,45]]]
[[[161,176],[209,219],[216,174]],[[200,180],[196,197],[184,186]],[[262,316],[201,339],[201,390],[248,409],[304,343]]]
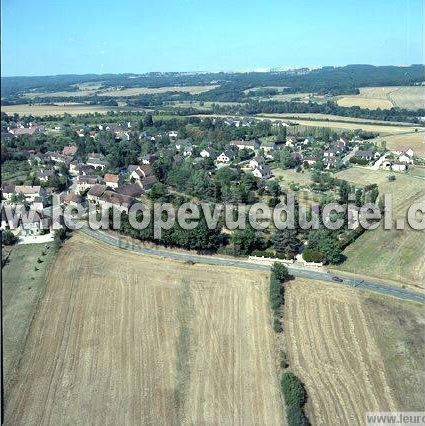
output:
[[[291,282],[287,354],[306,387],[312,424],[363,424],[368,411],[424,409],[423,333],[410,332],[424,323],[422,308],[330,283]]]

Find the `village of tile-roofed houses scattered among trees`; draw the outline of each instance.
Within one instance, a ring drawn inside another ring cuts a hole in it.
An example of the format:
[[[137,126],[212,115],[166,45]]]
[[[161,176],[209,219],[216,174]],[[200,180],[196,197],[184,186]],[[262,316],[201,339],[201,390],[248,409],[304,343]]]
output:
[[[259,120],[247,118],[229,117],[218,121],[213,120],[214,126],[238,131],[264,125]],[[19,148],[15,141],[22,139],[31,144],[32,140],[46,133],[57,137],[65,131],[63,125],[55,123],[49,128],[35,122],[3,121],[3,154],[29,165],[28,176],[32,184],[14,184],[13,179],[12,183],[3,182],[2,203],[11,207],[25,203],[37,211],[33,217],[21,219],[14,235],[21,242],[34,242],[37,236],[44,236],[43,241],[46,240],[46,234],[52,233],[48,207],[54,195],[64,206],[93,204],[98,208],[108,206],[128,213],[136,201],[146,201],[152,188],[161,194],[167,192],[165,187],[173,190],[172,184],[161,180],[159,164],[168,164],[173,169],[185,163],[193,170],[204,170],[207,176],[213,176],[223,168],[238,170],[239,176],[240,173],[253,176],[257,181],[265,182],[263,185],[267,188],[271,182],[277,181],[273,173],[276,168],[294,169],[298,173],[311,169],[328,175],[355,165],[401,173],[414,164],[415,159],[410,148],[403,152],[388,151],[385,146],[377,146],[359,135],[330,138],[327,142],[314,136],[287,136],[288,124],[283,121],[267,123],[280,137],[240,138],[219,144],[214,140],[206,143],[192,137],[181,138],[180,134],[186,133],[184,130],[155,132],[153,122],[147,124],[150,126],[145,127],[149,130],[136,130],[140,125],[130,121],[75,126],[72,129],[75,143],[63,146],[61,150],[41,152],[35,147]],[[68,134],[69,131],[68,127]],[[111,155],[102,153],[106,151],[106,143],[102,142],[106,138],[116,146],[133,141],[136,149],[145,154],[136,152],[131,158],[134,163],[112,166],[108,161]],[[90,143],[99,148],[97,152],[84,152],[82,146]],[[240,184],[240,180],[236,179],[234,183]],[[227,200],[223,198],[223,201]],[[9,228],[3,209],[1,225],[2,229]]]

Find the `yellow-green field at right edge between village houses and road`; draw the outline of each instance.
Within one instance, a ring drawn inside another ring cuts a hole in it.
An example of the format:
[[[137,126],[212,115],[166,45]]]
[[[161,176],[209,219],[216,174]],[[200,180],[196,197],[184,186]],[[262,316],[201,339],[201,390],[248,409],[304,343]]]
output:
[[[396,174],[383,170],[353,167],[336,174],[358,186],[377,183],[380,194],[391,194],[393,220],[405,218],[413,203],[425,200],[425,181],[421,178]],[[404,230],[366,231],[345,250],[347,260],[338,269],[359,275],[373,276],[402,285],[425,288],[425,238],[423,231],[415,231],[407,225]]]

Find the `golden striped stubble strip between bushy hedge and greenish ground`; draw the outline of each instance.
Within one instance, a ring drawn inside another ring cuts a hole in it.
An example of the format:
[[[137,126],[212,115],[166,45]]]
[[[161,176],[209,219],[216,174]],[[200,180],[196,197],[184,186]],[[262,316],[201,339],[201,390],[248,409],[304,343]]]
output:
[[[357,290],[297,279],[285,295],[284,324],[312,424],[363,424],[367,411],[397,409]]]

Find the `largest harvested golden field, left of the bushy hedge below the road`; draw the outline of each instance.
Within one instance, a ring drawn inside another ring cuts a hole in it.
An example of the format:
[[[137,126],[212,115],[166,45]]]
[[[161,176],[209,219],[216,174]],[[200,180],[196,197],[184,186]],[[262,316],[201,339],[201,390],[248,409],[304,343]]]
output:
[[[7,425],[279,425],[268,274],[76,233],[48,275]]]

